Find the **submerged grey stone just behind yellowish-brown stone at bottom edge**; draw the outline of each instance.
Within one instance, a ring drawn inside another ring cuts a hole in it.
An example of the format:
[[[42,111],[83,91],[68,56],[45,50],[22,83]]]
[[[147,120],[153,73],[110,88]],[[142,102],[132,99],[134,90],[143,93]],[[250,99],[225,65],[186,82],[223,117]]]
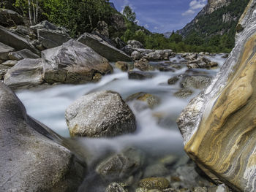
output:
[[[143,177],[161,177],[169,174],[169,170],[163,164],[153,164],[147,166]]]

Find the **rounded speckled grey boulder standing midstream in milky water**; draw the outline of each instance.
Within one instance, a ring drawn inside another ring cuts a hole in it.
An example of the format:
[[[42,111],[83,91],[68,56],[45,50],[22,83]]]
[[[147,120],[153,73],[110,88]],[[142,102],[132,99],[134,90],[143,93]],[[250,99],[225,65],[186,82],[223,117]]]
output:
[[[116,92],[99,91],[80,97],[66,110],[72,137],[115,137],[135,131],[135,115]]]

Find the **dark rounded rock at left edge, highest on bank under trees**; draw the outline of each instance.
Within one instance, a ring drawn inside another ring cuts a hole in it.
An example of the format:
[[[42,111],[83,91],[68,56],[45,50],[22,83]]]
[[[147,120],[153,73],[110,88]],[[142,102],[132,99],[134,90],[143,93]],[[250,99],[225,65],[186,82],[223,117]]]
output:
[[[9,9],[1,9],[0,8],[0,25],[1,26],[18,26],[23,24],[23,17],[18,14],[18,12],[9,10]]]

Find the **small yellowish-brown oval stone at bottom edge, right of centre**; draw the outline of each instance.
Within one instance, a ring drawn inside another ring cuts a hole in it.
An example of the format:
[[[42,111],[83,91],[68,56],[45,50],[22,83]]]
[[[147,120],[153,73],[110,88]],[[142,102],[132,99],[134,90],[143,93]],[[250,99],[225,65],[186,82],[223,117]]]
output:
[[[150,177],[143,180],[140,180],[140,188],[147,189],[166,189],[170,187],[170,183],[164,177]]]

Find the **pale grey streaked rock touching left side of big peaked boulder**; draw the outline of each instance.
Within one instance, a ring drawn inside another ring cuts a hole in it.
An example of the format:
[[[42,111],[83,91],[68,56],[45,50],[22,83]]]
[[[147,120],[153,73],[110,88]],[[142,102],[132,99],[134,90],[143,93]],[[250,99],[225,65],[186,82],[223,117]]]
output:
[[[4,83],[10,88],[31,88],[40,85],[43,80],[42,60],[25,58],[4,75]]]

